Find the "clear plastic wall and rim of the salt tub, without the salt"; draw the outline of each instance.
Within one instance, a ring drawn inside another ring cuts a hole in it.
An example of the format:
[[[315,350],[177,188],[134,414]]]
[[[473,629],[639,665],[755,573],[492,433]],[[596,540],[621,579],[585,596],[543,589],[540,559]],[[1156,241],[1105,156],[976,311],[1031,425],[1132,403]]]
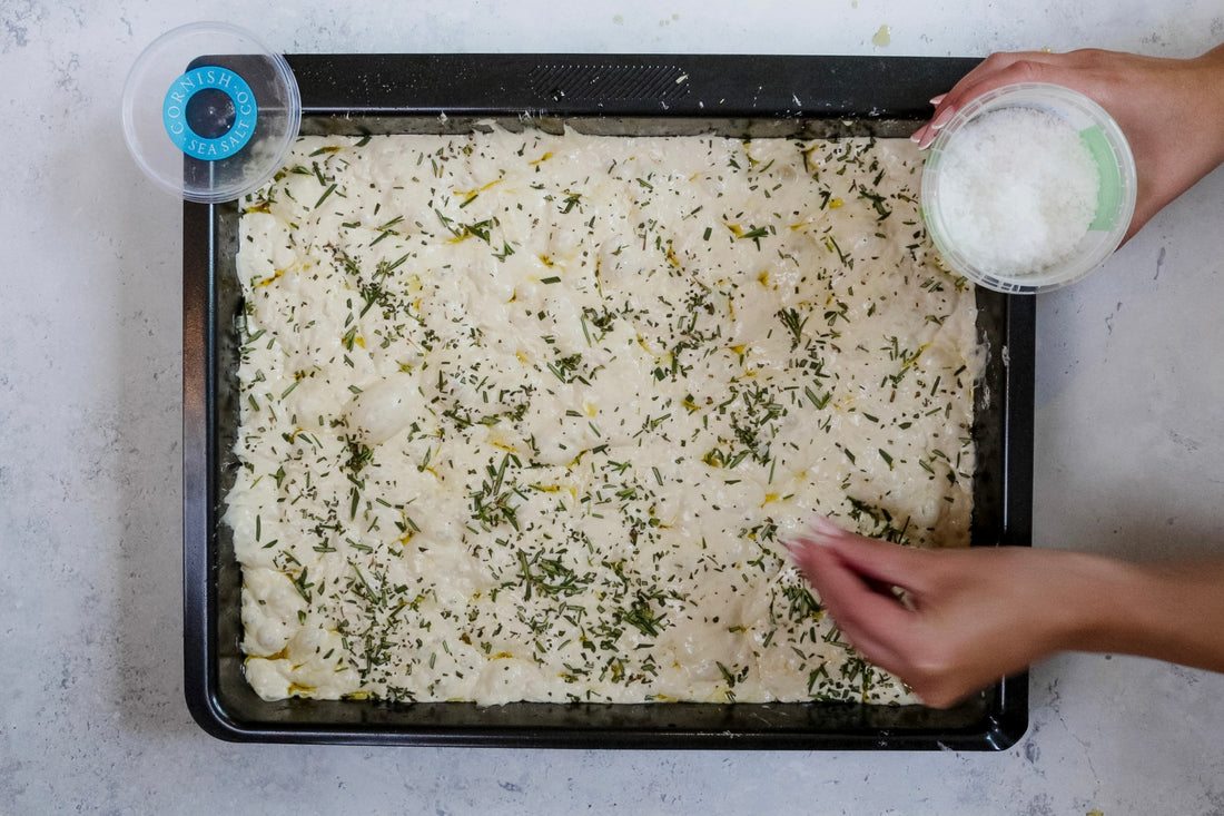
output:
[[[1065,120],[1080,134],[1099,172],[1097,210],[1087,233],[1061,260],[1024,273],[1000,273],[971,260],[957,247],[941,202],[942,161],[965,129],[1005,108],[1034,108]],[[1082,279],[1118,249],[1135,213],[1135,158],[1118,123],[1088,97],[1058,85],[1026,82],[988,92],[952,116],[927,156],[922,178],[922,212],[927,232],[947,267],[996,292],[1031,294]]]

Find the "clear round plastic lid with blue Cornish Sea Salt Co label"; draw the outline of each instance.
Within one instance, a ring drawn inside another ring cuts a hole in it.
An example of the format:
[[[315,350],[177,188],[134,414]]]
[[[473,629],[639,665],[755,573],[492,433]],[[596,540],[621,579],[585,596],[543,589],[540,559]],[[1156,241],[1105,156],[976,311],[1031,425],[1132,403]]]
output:
[[[124,86],[124,136],[142,170],[188,201],[233,201],[280,168],[301,98],[289,64],[255,34],[200,22],[153,40]]]

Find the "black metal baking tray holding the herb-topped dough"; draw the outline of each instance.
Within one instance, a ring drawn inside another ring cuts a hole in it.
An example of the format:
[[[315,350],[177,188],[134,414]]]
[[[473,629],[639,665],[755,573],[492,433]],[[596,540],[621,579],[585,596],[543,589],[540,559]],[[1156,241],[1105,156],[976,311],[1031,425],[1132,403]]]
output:
[[[225,58],[211,58],[213,61]],[[241,58],[234,58],[240,60]],[[976,60],[734,55],[289,55],[304,134],[512,130],[908,136]],[[190,159],[188,159],[190,161]],[[187,172],[193,172],[187,168]],[[951,709],[854,703],[386,703],[259,700],[242,678],[240,570],[219,523],[239,398],[236,203],[184,208],[184,647],[187,706],[235,741],[607,749],[1001,750],[1028,678]],[[977,290],[973,544],[1031,544],[1034,303]]]

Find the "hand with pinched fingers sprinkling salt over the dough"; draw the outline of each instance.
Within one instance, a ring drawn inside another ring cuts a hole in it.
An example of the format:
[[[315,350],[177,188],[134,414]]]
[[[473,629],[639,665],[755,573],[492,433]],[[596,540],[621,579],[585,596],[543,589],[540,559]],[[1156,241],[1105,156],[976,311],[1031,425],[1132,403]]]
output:
[[[1082,640],[1114,615],[1105,589],[1121,569],[1017,546],[911,549],[825,518],[787,546],[854,648],[934,707]]]

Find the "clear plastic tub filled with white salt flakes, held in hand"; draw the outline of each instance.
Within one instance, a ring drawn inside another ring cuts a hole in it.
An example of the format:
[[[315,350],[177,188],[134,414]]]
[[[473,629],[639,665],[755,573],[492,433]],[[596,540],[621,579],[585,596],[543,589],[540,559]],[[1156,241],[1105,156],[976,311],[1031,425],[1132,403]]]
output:
[[[927,232],[950,270],[998,292],[1073,283],[1118,249],[1135,212],[1135,158],[1088,97],[1027,82],[985,93],[931,143]]]

